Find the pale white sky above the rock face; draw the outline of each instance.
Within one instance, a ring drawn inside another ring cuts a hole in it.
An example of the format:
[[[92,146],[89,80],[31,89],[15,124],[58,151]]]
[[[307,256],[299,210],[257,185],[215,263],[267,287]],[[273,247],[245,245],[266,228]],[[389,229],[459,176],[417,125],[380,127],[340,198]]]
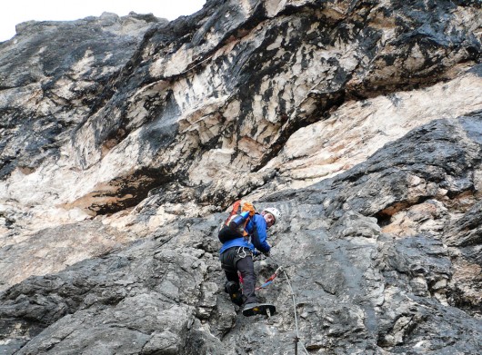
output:
[[[169,21],[200,10],[206,0],[4,0],[0,5],[0,42],[15,35],[15,25],[25,21],[73,21],[103,12],[125,16],[153,14]]]

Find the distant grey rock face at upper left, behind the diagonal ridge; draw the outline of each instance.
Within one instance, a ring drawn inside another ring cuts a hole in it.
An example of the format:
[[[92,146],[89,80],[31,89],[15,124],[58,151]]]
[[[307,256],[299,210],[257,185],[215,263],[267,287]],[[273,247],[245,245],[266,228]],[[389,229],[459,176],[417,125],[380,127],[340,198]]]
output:
[[[17,25],[17,35],[0,44],[5,98],[0,102],[0,175],[16,166],[35,170],[46,157],[57,156],[146,31],[166,23],[154,16],[104,13],[73,22]]]

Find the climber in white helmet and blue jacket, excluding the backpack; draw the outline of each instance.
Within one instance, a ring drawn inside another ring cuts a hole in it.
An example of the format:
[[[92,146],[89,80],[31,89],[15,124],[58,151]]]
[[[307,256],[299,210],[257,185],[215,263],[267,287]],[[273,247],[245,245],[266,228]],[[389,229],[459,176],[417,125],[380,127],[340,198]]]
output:
[[[272,305],[259,304],[255,294],[256,275],[253,255],[260,253],[269,256],[271,246],[266,242],[267,229],[281,219],[281,213],[274,207],[266,208],[255,213],[246,223],[247,238],[236,238],[223,243],[219,251],[221,268],[226,273],[225,291],[229,293],[231,301],[242,306],[243,314],[251,316],[266,314],[266,307],[276,310]],[[243,280],[243,294],[240,293],[238,272]]]

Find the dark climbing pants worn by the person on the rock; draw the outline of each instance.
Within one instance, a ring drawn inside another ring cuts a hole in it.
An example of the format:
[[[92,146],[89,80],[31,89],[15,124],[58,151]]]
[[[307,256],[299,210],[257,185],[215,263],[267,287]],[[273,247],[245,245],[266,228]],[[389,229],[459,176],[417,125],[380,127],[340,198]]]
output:
[[[233,247],[224,251],[220,256],[221,268],[226,273],[227,281],[234,281],[239,285],[239,276],[243,278],[243,298],[245,303],[257,303],[255,287],[256,275],[253,253],[248,248]]]

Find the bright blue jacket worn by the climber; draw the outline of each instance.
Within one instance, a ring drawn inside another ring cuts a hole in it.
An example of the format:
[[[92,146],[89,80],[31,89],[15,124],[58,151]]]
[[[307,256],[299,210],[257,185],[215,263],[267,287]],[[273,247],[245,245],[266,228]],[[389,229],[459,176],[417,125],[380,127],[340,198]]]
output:
[[[255,213],[253,218],[251,218],[247,222],[245,228],[245,231],[249,234],[249,240],[246,241],[245,238],[236,238],[232,239],[231,241],[227,241],[223,244],[219,253],[222,254],[224,251],[232,247],[246,247],[253,251],[255,254],[255,248],[261,252],[268,252],[271,247],[266,242],[266,230],[267,225],[265,217],[263,217],[261,214]]]

